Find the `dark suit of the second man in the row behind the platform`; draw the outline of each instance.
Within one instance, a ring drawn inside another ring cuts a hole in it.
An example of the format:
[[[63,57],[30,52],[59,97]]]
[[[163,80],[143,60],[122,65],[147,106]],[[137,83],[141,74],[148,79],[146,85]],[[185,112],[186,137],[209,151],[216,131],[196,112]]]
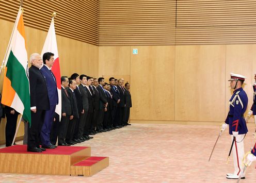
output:
[[[71,102],[71,108],[72,108],[72,114],[73,119],[69,121],[68,125],[68,131],[66,135],[66,142],[70,143],[74,139],[74,131],[75,131],[75,124],[78,122],[79,114],[78,114],[78,109],[77,109],[77,104],[76,104],[76,98],[75,98],[75,93],[72,92],[70,88],[67,89],[69,97],[70,97],[70,102]]]

